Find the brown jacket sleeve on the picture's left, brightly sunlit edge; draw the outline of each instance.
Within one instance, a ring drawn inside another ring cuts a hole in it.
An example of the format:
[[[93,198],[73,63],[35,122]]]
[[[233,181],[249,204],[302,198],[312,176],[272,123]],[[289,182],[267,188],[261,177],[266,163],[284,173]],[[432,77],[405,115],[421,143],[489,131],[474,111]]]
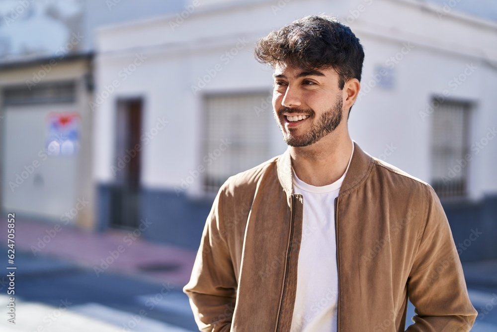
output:
[[[204,226],[191,278],[183,287],[200,331],[227,332],[236,303],[237,279],[226,241],[222,189]]]

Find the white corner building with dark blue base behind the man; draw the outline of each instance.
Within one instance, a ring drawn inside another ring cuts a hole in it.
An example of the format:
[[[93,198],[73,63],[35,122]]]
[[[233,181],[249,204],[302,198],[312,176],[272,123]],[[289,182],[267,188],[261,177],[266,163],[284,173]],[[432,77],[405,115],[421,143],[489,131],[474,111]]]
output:
[[[436,188],[456,243],[483,231],[462,260],[496,258],[497,24],[414,0],[194,1],[99,29],[101,226],[148,218],[149,237],[196,249],[219,185],[286,148],[272,70],[254,60],[254,42],[319,13],[348,24],[365,48],[352,138]]]

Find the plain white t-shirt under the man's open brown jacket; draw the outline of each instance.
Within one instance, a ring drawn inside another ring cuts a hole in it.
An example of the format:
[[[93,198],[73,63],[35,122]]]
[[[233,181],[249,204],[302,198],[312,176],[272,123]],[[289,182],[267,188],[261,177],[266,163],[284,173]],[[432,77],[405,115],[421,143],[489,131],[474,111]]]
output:
[[[334,200],[352,154],[345,173],[330,185],[311,186],[293,172],[294,193],[304,197],[304,220],[291,332],[336,332],[338,270]]]

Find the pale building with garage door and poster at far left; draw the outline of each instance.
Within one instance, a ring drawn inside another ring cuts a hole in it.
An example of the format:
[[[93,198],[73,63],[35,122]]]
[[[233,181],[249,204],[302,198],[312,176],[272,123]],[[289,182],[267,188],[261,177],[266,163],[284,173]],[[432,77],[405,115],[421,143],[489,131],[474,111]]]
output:
[[[93,29],[182,1],[1,1],[0,208],[95,228]]]

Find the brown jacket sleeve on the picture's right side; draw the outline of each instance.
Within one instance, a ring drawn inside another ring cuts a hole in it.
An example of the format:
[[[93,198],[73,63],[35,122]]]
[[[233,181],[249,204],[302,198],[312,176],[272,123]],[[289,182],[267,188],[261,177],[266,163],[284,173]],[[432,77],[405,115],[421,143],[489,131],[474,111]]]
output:
[[[426,223],[408,280],[416,315],[407,331],[470,331],[478,313],[469,300],[447,217],[433,188],[426,188]]]

